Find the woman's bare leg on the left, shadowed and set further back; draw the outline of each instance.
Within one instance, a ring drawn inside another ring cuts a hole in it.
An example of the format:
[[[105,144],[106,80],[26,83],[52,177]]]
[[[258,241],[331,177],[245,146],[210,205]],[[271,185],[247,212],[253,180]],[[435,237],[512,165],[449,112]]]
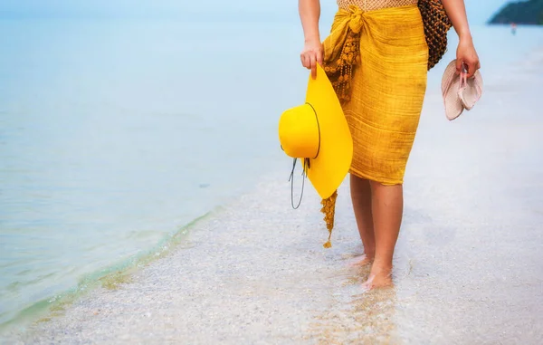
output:
[[[376,253],[374,220],[371,214],[372,198],[369,181],[364,178],[350,176],[351,199],[357,219],[358,232],[364,245],[364,257],[356,264],[369,264]]]

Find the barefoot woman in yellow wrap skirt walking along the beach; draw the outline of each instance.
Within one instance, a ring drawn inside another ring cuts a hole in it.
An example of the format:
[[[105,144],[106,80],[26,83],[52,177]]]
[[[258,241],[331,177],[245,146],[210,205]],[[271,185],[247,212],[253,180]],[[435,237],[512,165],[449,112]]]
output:
[[[324,43],[319,0],[299,0],[305,45],[301,63],[338,72],[335,87],[354,142],[350,188],[364,256],[372,264],[365,285],[392,284],[392,260],[403,214],[403,178],[423,107],[428,46],[417,0],[338,0]],[[457,71],[468,78],[481,66],[463,0],[443,0],[460,38]],[[346,43],[348,33],[352,36]],[[353,45],[355,44],[355,45]],[[352,53],[355,55],[352,55]],[[341,59],[350,59],[350,67]],[[344,82],[348,81],[348,82]],[[334,81],[333,81],[334,83]]]

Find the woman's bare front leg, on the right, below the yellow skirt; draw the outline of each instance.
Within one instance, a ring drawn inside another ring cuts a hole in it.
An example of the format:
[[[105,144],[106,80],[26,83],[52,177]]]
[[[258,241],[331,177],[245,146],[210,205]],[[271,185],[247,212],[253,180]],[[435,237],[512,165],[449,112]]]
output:
[[[371,181],[372,216],[376,236],[376,255],[367,287],[392,284],[392,259],[404,212],[402,185],[384,186]]]

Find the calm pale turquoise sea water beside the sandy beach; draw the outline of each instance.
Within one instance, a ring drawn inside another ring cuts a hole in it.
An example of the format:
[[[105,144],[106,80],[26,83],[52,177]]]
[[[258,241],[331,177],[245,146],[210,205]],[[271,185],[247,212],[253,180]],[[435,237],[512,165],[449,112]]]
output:
[[[490,82],[543,43],[534,28],[473,31]],[[276,122],[303,100],[297,22],[24,19],[0,32],[0,324],[269,171],[288,177]]]

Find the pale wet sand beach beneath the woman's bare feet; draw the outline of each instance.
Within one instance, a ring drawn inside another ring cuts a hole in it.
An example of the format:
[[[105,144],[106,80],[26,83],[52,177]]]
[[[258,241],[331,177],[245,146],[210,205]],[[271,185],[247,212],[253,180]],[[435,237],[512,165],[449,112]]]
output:
[[[364,292],[348,184],[333,247],[319,199],[290,206],[288,159],[116,290],[90,292],[15,343],[543,342],[543,54],[448,122],[429,90],[405,178],[395,288]],[[307,187],[307,186],[306,186]]]

